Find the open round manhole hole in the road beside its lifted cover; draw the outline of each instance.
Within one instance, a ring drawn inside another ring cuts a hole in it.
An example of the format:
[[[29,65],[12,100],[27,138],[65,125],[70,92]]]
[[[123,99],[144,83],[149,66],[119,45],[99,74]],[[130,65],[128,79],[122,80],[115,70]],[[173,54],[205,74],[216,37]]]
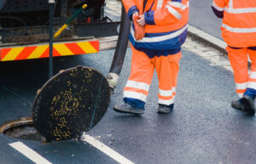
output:
[[[20,120],[3,123],[0,127],[0,133],[15,139],[38,141],[42,139],[30,117],[22,117]]]

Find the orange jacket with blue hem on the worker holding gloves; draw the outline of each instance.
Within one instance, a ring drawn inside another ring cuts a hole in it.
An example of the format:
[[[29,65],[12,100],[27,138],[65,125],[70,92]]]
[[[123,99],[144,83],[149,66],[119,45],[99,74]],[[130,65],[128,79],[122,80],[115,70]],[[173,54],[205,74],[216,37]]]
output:
[[[179,48],[187,37],[189,0],[123,0],[130,19],[145,16],[145,37],[137,41],[131,26],[129,39],[135,48],[168,50]]]

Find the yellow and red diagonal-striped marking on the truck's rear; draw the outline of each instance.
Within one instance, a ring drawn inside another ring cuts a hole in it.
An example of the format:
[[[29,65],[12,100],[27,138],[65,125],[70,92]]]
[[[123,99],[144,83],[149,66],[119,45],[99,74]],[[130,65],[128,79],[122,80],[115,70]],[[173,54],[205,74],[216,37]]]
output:
[[[98,52],[99,41],[55,43],[53,45],[53,56],[92,54]],[[48,57],[49,45],[0,49],[0,61]]]

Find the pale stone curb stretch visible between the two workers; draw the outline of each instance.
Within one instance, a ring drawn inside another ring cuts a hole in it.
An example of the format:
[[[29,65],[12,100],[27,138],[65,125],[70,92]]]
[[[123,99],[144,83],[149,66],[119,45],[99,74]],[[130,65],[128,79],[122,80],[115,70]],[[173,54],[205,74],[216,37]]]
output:
[[[208,34],[205,31],[201,31],[192,25],[188,25],[188,35],[196,39],[199,42],[205,43],[207,46],[212,47],[220,51],[222,54],[227,55],[226,46],[227,44],[223,41],[218,39],[217,37],[213,37],[212,35]]]

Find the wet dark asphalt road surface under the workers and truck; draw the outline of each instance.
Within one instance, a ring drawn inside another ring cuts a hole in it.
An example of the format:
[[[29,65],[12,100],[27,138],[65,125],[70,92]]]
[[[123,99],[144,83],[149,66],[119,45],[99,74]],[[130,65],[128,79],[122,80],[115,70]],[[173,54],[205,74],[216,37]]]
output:
[[[129,76],[131,49],[128,48],[108,111],[87,134],[134,163],[254,163],[255,117],[230,107],[231,100],[237,97],[229,65],[224,64],[224,58],[216,60],[218,53],[214,54],[211,48],[202,47],[191,39],[183,46],[172,113],[156,113],[158,81],[154,75],[143,116],[112,110],[113,105],[122,101],[122,89]],[[55,73],[86,65],[107,76],[113,52],[55,58]],[[0,68],[0,123],[31,116],[36,92],[48,78],[47,59],[4,62]],[[33,163],[9,145],[16,141],[0,135],[0,163]],[[41,144],[20,139],[20,142],[51,163],[118,163],[83,140]]]

